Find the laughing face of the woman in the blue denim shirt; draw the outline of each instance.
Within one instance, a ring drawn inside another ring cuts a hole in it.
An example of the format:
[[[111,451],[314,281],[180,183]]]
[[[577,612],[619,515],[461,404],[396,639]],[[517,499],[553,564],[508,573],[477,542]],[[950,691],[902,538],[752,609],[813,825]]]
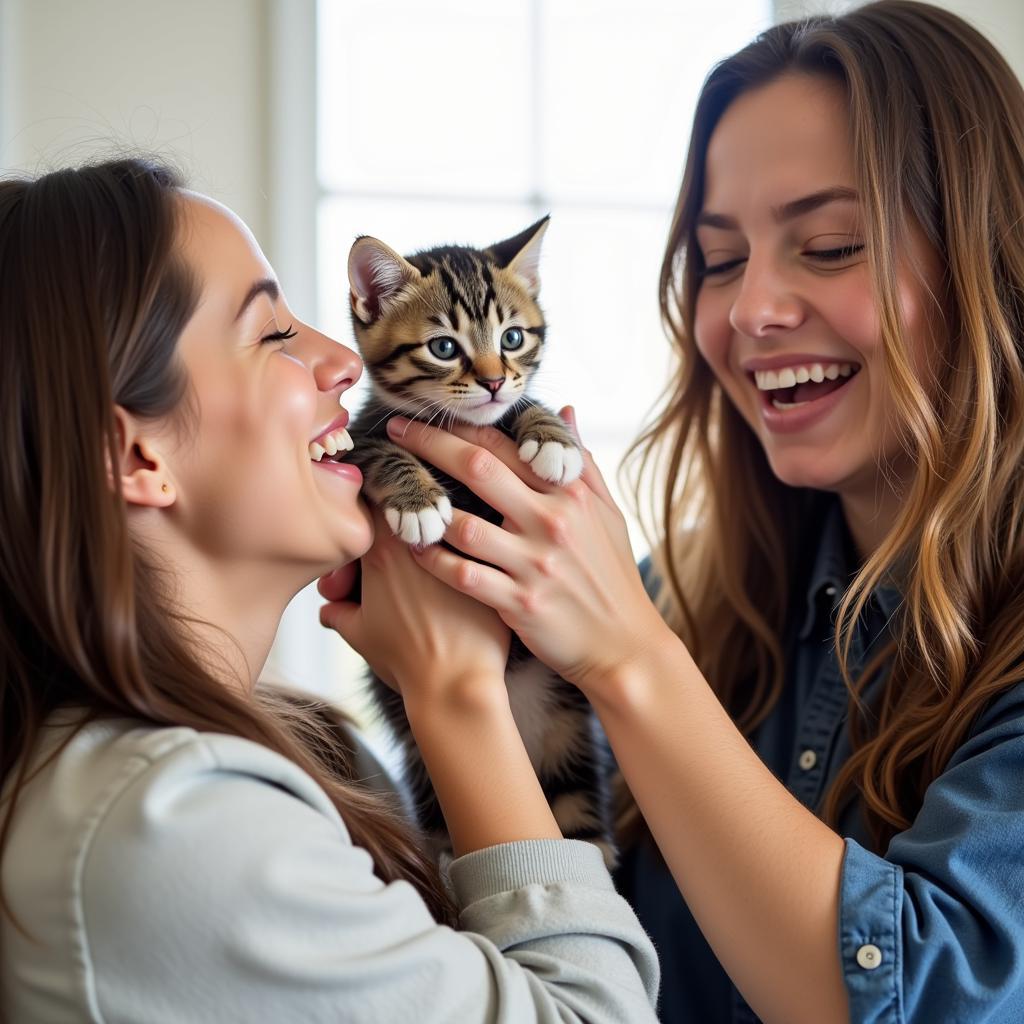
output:
[[[900,454],[849,123],[825,79],[740,95],[711,137],[696,231],[697,347],[775,475],[840,495],[870,494],[882,459]],[[920,369],[936,347],[938,258],[920,232],[909,248],[897,286]]]

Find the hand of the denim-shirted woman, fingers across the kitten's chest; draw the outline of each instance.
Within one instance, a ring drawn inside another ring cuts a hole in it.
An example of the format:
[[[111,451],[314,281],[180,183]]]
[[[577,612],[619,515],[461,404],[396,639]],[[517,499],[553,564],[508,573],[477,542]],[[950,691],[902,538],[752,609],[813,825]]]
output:
[[[673,637],[644,591],[622,513],[589,454],[582,477],[538,480],[515,444],[486,427],[398,423],[391,436],[505,517],[455,512],[440,547],[414,553],[431,573],[496,609],[530,651],[585,691]],[[485,562],[488,564],[481,564]]]

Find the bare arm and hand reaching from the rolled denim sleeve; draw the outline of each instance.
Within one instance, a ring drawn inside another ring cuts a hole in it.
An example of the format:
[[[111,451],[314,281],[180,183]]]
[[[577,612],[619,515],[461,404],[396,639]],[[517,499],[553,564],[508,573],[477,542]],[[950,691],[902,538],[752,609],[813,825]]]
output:
[[[768,1022],[846,1021],[843,841],[761,763],[662,622],[593,463],[554,488],[495,431],[464,431],[471,444],[400,430],[505,516],[499,528],[457,512],[445,535],[489,565],[442,548],[417,559],[496,608],[593,701],[683,896],[751,1006]]]

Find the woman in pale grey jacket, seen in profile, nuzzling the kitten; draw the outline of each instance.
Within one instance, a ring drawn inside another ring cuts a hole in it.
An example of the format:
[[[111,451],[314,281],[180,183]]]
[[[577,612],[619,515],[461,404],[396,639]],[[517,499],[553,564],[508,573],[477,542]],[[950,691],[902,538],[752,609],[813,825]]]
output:
[[[653,950],[559,837],[493,611],[387,537],[364,560],[451,891],[314,709],[256,685],[290,598],[347,592],[372,541],[360,369],[167,169],[0,181],[3,1019],[653,1020]]]

